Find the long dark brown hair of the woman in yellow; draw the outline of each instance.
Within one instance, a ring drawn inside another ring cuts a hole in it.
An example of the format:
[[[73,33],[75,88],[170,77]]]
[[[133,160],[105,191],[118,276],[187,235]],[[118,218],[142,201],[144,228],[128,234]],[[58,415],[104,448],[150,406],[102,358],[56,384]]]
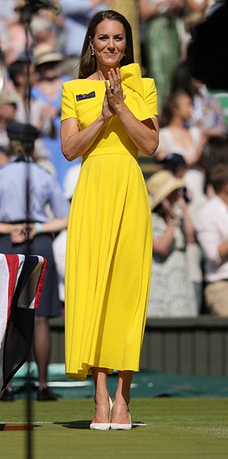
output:
[[[122,58],[120,66],[132,64],[132,62],[134,62],[132,28],[129,25],[128,20],[125,18],[125,16],[122,16],[122,14],[118,13],[117,11],[99,11],[99,13],[94,14],[94,16],[91,18],[91,21],[87,29],[87,35],[84,39],[80,59],[79,78],[87,78],[96,71],[96,56],[91,55],[91,47],[89,42],[90,37],[94,38],[96,28],[99,25],[99,23],[101,23],[105,19],[117,20],[125,28],[127,47],[125,50],[125,56]]]

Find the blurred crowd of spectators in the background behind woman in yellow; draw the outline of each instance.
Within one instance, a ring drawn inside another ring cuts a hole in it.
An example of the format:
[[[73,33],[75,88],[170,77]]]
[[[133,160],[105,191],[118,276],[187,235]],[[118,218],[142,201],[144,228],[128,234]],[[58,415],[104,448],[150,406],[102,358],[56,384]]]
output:
[[[33,8],[29,19],[25,3],[0,0],[0,169],[11,162],[9,124],[29,122],[39,130],[35,162],[70,201],[80,159],[61,153],[62,84],[77,78],[91,16],[118,10],[132,25],[135,60],[158,90],[160,141],[155,172],[145,177],[153,219],[148,318],[228,316],[228,91],[196,81],[187,60],[191,28],[217,2],[53,0],[56,9]],[[53,240],[63,306],[65,239],[63,229]]]

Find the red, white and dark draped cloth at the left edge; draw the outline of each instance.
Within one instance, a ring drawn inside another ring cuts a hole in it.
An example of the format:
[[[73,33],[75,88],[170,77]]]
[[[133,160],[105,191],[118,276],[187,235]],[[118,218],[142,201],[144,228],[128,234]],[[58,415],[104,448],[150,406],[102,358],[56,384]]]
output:
[[[1,388],[6,387],[10,378],[20,368],[20,359],[22,361],[21,364],[23,364],[27,358],[25,353],[30,350],[31,327],[33,329],[34,315],[31,317],[30,314],[29,316],[26,333],[25,310],[34,310],[39,307],[45,271],[46,259],[42,256],[0,254],[0,366],[3,369],[0,375],[0,391]],[[23,326],[23,350],[20,348],[20,333],[12,334],[12,327],[11,333],[7,333],[11,323],[12,308],[17,308],[17,311],[19,311],[18,308],[23,309],[21,313],[23,324],[20,323],[20,314],[13,315],[15,332],[18,328],[20,329],[20,326]],[[8,342],[8,340],[13,342]],[[9,364],[11,361],[9,350],[17,350],[17,346],[18,356],[20,354],[20,357],[17,359],[14,354],[14,362],[12,361]],[[4,362],[4,360],[7,360],[7,362]]]

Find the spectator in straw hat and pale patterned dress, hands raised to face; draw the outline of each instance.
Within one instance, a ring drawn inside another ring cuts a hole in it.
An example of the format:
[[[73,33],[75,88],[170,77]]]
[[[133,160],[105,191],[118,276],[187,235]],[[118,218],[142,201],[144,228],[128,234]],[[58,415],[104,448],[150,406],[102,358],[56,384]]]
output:
[[[146,182],[153,220],[153,261],[148,317],[196,316],[194,288],[186,261],[186,242],[194,242],[194,227],[182,197],[185,186],[168,171]]]

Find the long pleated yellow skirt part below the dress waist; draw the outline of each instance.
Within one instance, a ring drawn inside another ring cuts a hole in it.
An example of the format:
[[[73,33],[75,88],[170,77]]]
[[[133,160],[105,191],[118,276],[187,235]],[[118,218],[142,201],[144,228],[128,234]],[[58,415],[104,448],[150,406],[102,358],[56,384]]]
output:
[[[139,371],[151,280],[151,209],[129,153],[88,157],[70,208],[65,271],[65,369]]]

